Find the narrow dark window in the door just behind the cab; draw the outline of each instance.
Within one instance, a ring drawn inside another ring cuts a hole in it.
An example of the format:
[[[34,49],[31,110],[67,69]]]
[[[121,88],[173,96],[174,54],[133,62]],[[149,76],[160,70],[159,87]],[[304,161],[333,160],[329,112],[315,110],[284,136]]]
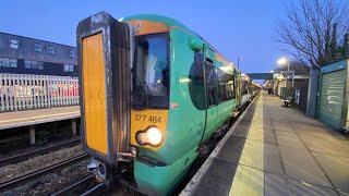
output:
[[[208,107],[216,105],[216,69],[206,60]]]

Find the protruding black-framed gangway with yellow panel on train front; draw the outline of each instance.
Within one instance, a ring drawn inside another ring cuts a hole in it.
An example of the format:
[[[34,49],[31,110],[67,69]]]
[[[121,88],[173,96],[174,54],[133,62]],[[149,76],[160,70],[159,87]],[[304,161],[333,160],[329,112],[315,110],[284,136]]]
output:
[[[106,184],[120,161],[136,154],[130,145],[131,47],[133,32],[107,13],[83,20],[77,27],[83,147],[95,160],[87,169]]]

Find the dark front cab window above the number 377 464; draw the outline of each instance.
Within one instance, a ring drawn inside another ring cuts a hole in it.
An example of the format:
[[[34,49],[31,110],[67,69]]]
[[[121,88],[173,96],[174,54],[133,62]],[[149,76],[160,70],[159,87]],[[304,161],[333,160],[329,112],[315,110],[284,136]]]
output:
[[[168,107],[168,34],[136,37],[135,61],[132,68],[133,105],[146,102],[147,107],[151,108]]]

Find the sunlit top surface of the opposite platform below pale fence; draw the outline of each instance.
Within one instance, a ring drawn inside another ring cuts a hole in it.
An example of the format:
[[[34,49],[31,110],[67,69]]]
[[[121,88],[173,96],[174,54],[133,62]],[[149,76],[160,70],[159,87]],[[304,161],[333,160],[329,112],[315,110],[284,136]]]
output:
[[[80,107],[56,107],[0,113],[0,130],[80,118]]]

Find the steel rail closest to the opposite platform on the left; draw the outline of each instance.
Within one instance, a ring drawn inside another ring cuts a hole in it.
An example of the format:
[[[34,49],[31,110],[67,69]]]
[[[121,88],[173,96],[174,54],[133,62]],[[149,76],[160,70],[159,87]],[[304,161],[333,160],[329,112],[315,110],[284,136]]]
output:
[[[61,148],[64,148],[64,147],[74,146],[74,145],[77,145],[80,143],[81,143],[81,138],[76,137],[76,138],[70,139],[70,140],[65,140],[65,142],[59,143],[57,145],[48,146],[48,147],[45,147],[45,148],[32,150],[32,151],[24,152],[24,154],[19,154],[19,155],[11,156],[11,157],[5,157],[5,158],[0,159],[0,167],[7,166],[7,164],[11,164],[11,163],[15,163],[15,162],[20,162],[20,161],[29,159],[32,157],[44,155],[44,154],[47,154],[47,152],[50,152],[50,151],[55,151],[55,150],[58,150],[58,149],[61,149]]]

